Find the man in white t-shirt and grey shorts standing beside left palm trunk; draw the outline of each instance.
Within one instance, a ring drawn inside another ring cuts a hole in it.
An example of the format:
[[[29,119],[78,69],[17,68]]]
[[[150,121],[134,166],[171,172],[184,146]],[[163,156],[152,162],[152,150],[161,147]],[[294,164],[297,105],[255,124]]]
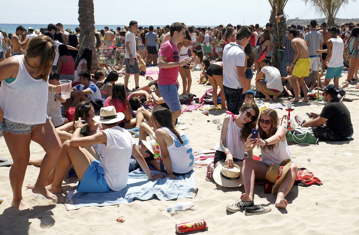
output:
[[[130,92],[127,87],[129,84],[130,74],[135,74],[135,89],[139,88],[139,77],[140,77],[140,68],[137,61],[137,52],[136,52],[136,40],[135,32],[138,29],[137,21],[131,20],[129,31],[127,31],[125,36],[126,41],[126,53],[125,53],[125,63],[126,63],[126,74],[125,74],[125,87],[126,92]]]

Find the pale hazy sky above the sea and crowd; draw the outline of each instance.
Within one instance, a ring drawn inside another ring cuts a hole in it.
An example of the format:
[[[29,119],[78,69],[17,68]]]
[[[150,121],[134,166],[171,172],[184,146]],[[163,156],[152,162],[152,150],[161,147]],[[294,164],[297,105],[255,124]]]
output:
[[[136,3],[136,4],[132,4]],[[51,4],[53,3],[53,4]],[[218,24],[260,24],[265,25],[270,17],[267,0],[206,0],[179,1],[118,1],[94,0],[95,24],[125,25],[136,20],[139,25],[166,25],[184,22],[195,26],[215,26]],[[128,4],[128,6],[127,6]],[[219,6],[223,5],[221,11]],[[133,9],[131,9],[133,8]],[[341,8],[337,18],[357,18],[359,2],[351,2]],[[2,1],[0,23],[3,24],[78,24],[78,1],[76,0],[14,0]],[[5,10],[6,9],[6,10]],[[250,10],[251,9],[251,10]],[[216,11],[217,10],[217,11]],[[29,14],[29,11],[32,13]],[[306,6],[302,0],[289,0],[285,14],[292,19],[318,18],[318,14]],[[18,14],[14,14],[18,12]],[[151,13],[151,15],[148,15]]]

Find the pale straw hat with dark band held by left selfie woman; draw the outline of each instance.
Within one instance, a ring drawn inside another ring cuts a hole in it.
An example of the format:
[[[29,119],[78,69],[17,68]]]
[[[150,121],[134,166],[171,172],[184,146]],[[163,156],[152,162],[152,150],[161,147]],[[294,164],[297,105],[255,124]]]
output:
[[[241,166],[234,164],[234,167],[230,168],[229,165],[225,165],[225,162],[223,162],[214,169],[213,179],[217,184],[223,187],[239,187],[243,185],[241,171]]]

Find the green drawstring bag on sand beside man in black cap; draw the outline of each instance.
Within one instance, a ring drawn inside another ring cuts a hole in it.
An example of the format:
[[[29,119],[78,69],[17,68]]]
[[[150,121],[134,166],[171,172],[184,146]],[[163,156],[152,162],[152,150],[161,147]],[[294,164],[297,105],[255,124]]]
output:
[[[300,127],[288,131],[286,135],[287,142],[297,144],[317,144],[318,138],[315,138],[311,127]]]

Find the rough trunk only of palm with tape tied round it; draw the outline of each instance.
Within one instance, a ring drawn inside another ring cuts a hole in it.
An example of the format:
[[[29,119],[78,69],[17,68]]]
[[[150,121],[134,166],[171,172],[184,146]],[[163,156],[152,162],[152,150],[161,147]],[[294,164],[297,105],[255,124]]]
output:
[[[284,14],[283,9],[278,9],[278,15],[282,15],[282,14]],[[272,23],[272,25],[273,25],[272,34],[274,37],[274,42],[278,42],[278,45],[279,45],[279,46],[276,46],[275,48],[273,48],[271,62],[272,62],[272,66],[280,69],[281,55],[279,54],[280,52],[278,52],[276,49],[279,49],[280,45],[282,45],[282,42],[286,36],[287,24],[285,22],[285,18],[281,17],[280,22],[278,23],[278,27],[277,27],[277,20],[275,18],[275,9],[272,9],[272,11],[271,11],[269,22]],[[278,38],[278,29],[279,29],[279,38]]]

